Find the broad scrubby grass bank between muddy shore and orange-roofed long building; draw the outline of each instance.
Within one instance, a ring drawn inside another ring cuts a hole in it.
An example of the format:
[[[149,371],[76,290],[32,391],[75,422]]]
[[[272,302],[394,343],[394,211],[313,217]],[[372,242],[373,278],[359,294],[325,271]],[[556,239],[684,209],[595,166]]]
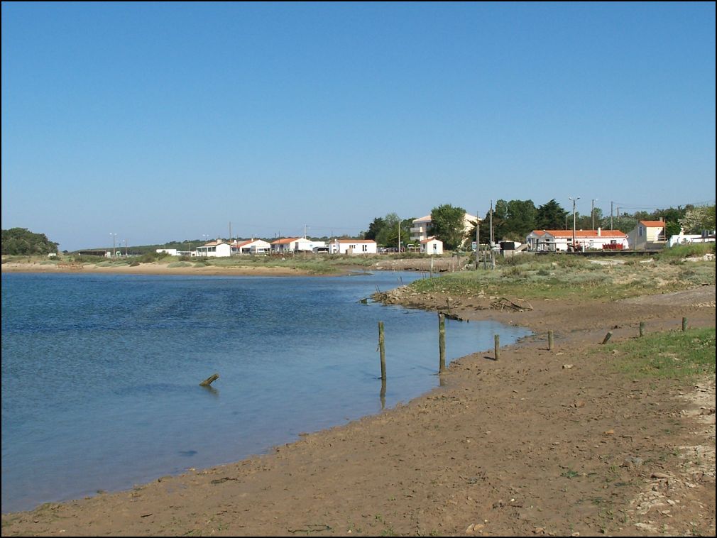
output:
[[[617,263],[619,262],[619,263]],[[519,255],[500,259],[495,270],[467,270],[412,283],[418,293],[513,296],[545,299],[621,298],[667,293],[715,283],[715,262],[685,261],[669,253],[655,258],[584,258]]]

